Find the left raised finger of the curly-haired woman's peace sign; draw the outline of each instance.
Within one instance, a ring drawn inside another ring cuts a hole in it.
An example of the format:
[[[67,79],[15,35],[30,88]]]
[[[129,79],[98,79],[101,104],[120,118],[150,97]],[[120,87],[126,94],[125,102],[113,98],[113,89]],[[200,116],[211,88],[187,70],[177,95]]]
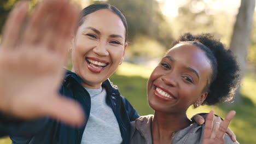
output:
[[[206,117],[205,129],[203,130],[203,139],[209,139],[212,133],[213,110]]]

